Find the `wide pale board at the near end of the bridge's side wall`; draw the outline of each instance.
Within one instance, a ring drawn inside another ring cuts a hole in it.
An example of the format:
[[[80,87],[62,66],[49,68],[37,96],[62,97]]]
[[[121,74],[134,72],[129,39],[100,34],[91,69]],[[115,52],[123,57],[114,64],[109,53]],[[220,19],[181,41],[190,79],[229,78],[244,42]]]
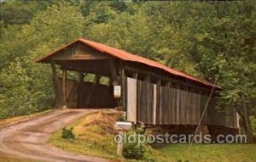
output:
[[[137,80],[127,78],[127,120],[137,122]]]

